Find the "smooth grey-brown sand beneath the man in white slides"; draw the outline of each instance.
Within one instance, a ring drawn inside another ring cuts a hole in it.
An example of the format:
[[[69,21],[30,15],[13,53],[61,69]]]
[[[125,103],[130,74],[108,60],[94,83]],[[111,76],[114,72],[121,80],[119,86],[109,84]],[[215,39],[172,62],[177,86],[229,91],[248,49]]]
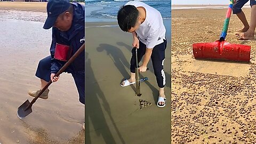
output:
[[[114,26],[93,27],[110,24]],[[158,86],[151,61],[150,70],[141,73],[141,77],[149,78],[141,83],[141,97],[135,95],[135,85],[119,85],[130,75],[133,39],[132,34],[115,25],[115,22],[85,23],[85,143],[170,143],[170,36],[164,62],[167,105],[158,108]],[[140,109],[140,99],[152,105]]]

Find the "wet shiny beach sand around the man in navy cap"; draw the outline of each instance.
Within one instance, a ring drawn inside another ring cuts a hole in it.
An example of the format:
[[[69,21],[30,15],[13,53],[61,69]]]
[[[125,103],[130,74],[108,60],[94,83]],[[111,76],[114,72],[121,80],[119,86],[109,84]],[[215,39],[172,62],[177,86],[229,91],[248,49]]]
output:
[[[19,9],[23,11],[0,8],[0,143],[84,143],[84,105],[70,74],[50,86],[49,99],[38,99],[33,113],[22,120],[17,116],[18,107],[33,99],[27,91],[39,87],[35,71],[51,44],[51,30],[42,28],[45,13]]]

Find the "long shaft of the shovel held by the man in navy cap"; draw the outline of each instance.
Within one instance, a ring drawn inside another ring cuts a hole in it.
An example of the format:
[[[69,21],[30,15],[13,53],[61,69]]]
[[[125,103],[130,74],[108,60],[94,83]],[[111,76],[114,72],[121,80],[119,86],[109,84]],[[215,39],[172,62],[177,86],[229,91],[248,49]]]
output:
[[[61,73],[63,73],[63,71],[70,65],[71,62],[73,62],[77,57],[78,55],[83,52],[85,49],[85,43],[78,49],[78,51],[76,51],[76,53],[65,63],[65,65],[63,65],[61,67],[61,69],[58,71],[57,74],[55,74],[54,76],[59,76]],[[47,87],[49,87],[50,85],[52,84],[52,81],[49,81],[45,86],[44,88],[37,94],[37,96],[30,102],[30,104],[28,105],[28,107],[25,109],[25,111],[30,108],[33,103],[36,102],[36,100],[40,97],[40,95],[47,89]]]

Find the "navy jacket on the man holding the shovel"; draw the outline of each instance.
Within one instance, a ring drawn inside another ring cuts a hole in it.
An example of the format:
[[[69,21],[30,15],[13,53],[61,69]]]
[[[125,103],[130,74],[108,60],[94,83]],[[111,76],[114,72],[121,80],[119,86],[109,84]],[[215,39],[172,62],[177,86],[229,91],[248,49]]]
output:
[[[52,27],[52,44],[50,53],[52,57],[51,73],[54,74],[58,73],[60,68],[65,64],[65,61],[54,59],[56,43],[72,47],[73,50],[71,55],[74,55],[74,53],[85,43],[84,5],[78,3],[71,4],[74,7],[71,28],[68,31],[60,31],[58,28]],[[84,72],[84,67],[85,52],[82,52],[65,71],[68,73]]]

